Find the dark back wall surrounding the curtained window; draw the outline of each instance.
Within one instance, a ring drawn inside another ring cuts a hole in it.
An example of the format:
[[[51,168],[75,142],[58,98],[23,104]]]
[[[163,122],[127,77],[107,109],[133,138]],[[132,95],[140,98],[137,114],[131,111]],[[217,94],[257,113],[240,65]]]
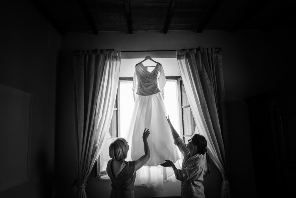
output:
[[[223,75],[226,89],[227,118],[229,125],[229,180],[234,197],[255,197],[254,171],[250,145],[247,106],[244,98],[266,91],[295,90],[292,59],[295,50],[295,31],[276,30],[205,30],[195,31],[135,31],[68,33],[62,37],[63,61],[58,80],[58,129],[57,129],[57,195],[70,196],[69,191],[76,178],[76,161],[73,128],[73,86],[70,60],[74,50],[176,50],[196,47],[221,47]],[[152,57],[153,58],[153,57]],[[212,173],[205,176],[207,197],[219,197],[221,174],[211,163]],[[136,187],[137,197],[158,196],[151,189]],[[110,181],[88,181],[88,197],[108,197]]]

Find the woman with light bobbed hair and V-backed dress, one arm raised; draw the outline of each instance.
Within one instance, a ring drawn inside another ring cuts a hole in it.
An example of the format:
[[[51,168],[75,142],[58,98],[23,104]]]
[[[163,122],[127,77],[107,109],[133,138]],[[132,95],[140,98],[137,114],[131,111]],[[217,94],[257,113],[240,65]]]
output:
[[[112,158],[107,164],[107,174],[111,179],[110,198],[133,198],[136,171],[139,170],[150,158],[150,150],[147,138],[150,132],[143,132],[144,155],[135,161],[125,161],[128,153],[128,142],[124,138],[118,138],[109,146],[109,156]]]

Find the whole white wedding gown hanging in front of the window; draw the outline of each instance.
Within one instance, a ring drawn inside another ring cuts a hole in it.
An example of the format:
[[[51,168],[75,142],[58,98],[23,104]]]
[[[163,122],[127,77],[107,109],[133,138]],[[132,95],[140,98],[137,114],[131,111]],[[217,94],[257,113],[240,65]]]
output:
[[[136,186],[163,189],[163,181],[176,181],[172,168],[165,168],[159,164],[166,159],[181,168],[181,155],[174,145],[170,126],[165,117],[163,90],[165,74],[163,67],[157,63],[149,72],[142,63],[135,67],[133,77],[134,108],[126,140],[130,145],[127,160],[137,160],[144,155],[142,135],[144,129],[150,130],[147,139],[150,158],[141,169],[136,172]]]

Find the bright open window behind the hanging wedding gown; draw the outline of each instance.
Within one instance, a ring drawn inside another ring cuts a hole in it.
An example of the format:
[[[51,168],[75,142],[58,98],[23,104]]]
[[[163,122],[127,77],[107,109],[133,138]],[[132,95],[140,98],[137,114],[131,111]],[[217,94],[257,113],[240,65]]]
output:
[[[170,120],[174,124],[176,131],[183,136],[184,142],[190,139],[194,134],[195,122],[190,109],[185,88],[180,76],[166,77],[165,85],[165,108],[167,114],[170,115]],[[114,112],[110,129],[102,153],[96,162],[95,172],[96,178],[109,179],[106,167],[107,162],[111,159],[109,156],[109,145],[118,137],[125,137],[129,121],[133,110],[133,78],[120,78],[118,83],[118,92],[114,106]],[[170,100],[166,100],[169,98]],[[181,155],[182,156],[182,155]],[[208,155],[203,156],[206,160],[205,174],[210,173]],[[183,156],[182,156],[183,158]],[[183,159],[182,159],[183,160]]]

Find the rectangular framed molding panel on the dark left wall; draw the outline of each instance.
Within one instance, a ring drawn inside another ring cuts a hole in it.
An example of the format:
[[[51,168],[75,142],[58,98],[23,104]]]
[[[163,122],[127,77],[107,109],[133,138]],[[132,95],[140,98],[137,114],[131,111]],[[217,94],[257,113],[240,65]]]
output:
[[[32,98],[0,83],[0,192],[29,181]]]

